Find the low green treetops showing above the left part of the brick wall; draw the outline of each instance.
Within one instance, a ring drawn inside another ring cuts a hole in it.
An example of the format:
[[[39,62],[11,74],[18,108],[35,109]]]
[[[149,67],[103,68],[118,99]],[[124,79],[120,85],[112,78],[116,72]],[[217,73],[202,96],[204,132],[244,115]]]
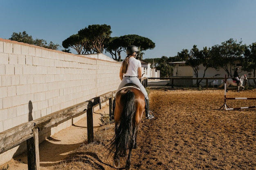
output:
[[[43,39],[36,38],[36,40],[34,40],[31,35],[28,35],[26,33],[26,31],[23,31],[22,33],[15,33],[14,32],[11,35],[11,38],[9,38],[9,40],[24,42],[24,43],[27,43],[27,44],[33,44],[33,45],[36,45],[36,46],[41,46],[41,47],[44,47],[44,48],[47,48],[47,49],[53,49],[53,50],[57,50],[58,47],[60,47],[58,44],[54,44],[52,41],[48,45],[47,42]]]

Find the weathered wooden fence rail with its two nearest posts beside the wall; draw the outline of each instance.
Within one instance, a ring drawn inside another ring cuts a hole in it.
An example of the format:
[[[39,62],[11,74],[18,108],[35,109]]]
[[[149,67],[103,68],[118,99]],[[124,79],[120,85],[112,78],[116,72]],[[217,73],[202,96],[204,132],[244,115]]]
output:
[[[86,102],[70,106],[50,115],[0,132],[0,154],[14,148],[15,146],[18,146],[24,141],[27,141],[28,170],[39,170],[40,161],[38,132],[52,126],[57,126],[60,122],[66,121],[67,119],[72,119],[73,117],[81,115],[85,113],[85,110],[88,118],[88,143],[93,142],[92,108],[99,105],[101,109],[101,102],[106,102],[106,100],[111,99],[113,97],[113,93],[114,92],[105,93]]]

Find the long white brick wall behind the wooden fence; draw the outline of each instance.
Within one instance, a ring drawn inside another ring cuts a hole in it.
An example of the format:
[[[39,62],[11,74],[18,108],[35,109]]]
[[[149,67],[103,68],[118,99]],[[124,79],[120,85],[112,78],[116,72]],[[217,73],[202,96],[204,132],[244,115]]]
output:
[[[0,39],[0,132],[115,91],[121,63],[90,57]],[[68,121],[42,134],[53,135]],[[3,155],[0,164],[10,154]]]

